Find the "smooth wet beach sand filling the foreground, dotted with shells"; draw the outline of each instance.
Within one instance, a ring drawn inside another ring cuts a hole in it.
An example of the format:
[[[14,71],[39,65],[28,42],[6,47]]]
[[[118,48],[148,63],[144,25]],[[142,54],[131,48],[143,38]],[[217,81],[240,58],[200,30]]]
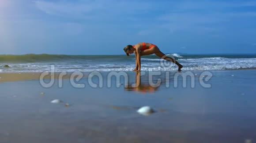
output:
[[[39,73],[0,73],[0,143],[256,142],[256,70],[210,71],[211,88],[200,85],[202,72],[193,71],[194,88],[190,78],[187,87],[181,78],[174,87],[176,72],[169,73],[169,81],[164,72],[152,80],[148,72],[139,79],[127,72],[129,86],[120,87],[115,78],[107,87],[108,72],[102,72],[102,88],[89,85],[88,73],[77,83],[84,88],[73,87],[68,76],[63,87],[55,82],[45,88]],[[162,84],[151,87],[149,81],[158,78]],[[63,103],[50,103],[54,99]],[[138,114],[143,106],[156,112]]]

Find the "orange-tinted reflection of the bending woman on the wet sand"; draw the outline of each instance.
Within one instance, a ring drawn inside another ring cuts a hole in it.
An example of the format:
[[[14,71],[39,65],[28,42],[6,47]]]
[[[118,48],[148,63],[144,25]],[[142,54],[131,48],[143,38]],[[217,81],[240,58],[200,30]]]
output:
[[[125,90],[128,91],[137,91],[137,92],[143,92],[143,93],[153,93],[158,89],[158,87],[152,87],[148,83],[141,83],[141,77],[140,77],[140,72],[136,72],[136,79],[135,79],[135,85],[134,84],[128,84],[128,86],[125,87]]]

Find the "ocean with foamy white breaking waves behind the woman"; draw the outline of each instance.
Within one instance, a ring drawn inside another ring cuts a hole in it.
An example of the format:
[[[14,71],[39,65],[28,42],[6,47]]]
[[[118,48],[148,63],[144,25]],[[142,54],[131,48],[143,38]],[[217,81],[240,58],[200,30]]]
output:
[[[256,68],[256,54],[172,54],[182,70],[227,70]],[[168,56],[168,54],[167,54]],[[8,65],[9,67],[5,67]],[[51,65],[55,72],[131,71],[135,57],[126,55],[0,55],[0,72],[44,72]],[[141,58],[142,71],[176,71],[177,66],[155,55]]]

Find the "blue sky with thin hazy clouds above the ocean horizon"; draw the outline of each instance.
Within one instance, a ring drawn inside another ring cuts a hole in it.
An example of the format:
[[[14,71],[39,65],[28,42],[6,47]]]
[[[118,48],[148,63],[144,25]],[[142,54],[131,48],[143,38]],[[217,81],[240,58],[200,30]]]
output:
[[[0,54],[256,53],[252,0],[0,0]]]

